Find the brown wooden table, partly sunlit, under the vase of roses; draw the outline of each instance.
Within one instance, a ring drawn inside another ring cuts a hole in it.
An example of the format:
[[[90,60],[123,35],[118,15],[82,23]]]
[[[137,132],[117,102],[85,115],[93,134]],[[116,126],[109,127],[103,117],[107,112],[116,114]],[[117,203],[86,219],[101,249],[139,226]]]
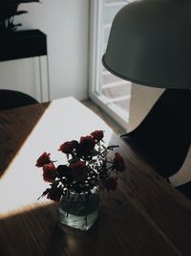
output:
[[[99,218],[81,235],[65,233],[58,205],[36,200],[47,188],[35,160],[59,159],[59,145],[95,129],[126,163],[117,191],[101,194]],[[191,203],[159,177],[93,112],[73,98],[0,112],[0,255],[191,255]]]

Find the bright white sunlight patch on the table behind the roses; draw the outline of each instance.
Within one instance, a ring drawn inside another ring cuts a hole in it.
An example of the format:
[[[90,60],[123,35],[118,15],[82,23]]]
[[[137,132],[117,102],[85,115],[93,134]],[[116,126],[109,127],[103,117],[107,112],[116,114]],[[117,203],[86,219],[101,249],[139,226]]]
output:
[[[35,167],[42,152],[50,152],[57,163],[66,163],[65,155],[57,151],[59,146],[96,129],[105,131],[104,141],[108,145],[112,130],[95,113],[74,98],[53,101],[0,179],[0,215],[36,202],[49,187],[42,178],[42,169]]]

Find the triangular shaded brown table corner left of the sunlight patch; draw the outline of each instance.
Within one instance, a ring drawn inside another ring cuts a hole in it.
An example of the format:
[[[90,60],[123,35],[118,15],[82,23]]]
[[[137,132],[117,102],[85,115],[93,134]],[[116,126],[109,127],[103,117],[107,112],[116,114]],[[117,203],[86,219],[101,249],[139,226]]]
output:
[[[1,111],[0,176],[9,167],[11,160],[22,147],[48,105],[49,103],[44,105],[29,105]]]

